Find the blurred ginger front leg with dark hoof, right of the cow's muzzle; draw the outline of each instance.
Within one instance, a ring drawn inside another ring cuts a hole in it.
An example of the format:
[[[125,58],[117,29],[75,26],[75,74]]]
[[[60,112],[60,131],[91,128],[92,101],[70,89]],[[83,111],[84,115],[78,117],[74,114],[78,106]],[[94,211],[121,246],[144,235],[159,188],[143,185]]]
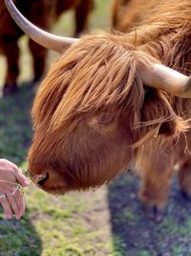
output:
[[[168,199],[172,164],[170,159],[154,157],[147,169],[141,171],[142,185],[138,193],[149,218],[161,221]],[[147,160],[148,161],[148,160]]]

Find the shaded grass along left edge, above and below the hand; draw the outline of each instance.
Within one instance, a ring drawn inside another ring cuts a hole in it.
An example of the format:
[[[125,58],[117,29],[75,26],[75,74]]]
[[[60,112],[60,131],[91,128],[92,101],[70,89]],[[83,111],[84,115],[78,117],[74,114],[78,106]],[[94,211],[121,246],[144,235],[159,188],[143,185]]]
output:
[[[17,165],[26,161],[32,139],[31,106],[34,87],[22,84],[14,96],[0,99],[0,157]],[[42,245],[28,211],[20,220],[7,221],[0,210],[0,255],[38,256]]]

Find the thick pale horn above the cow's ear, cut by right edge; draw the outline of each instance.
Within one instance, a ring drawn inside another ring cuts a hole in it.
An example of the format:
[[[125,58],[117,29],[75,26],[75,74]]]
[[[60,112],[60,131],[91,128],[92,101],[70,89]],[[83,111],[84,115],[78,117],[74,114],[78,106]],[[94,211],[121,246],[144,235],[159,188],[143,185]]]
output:
[[[191,98],[191,77],[182,75],[161,64],[141,70],[140,76],[145,85],[166,91],[181,98]]]

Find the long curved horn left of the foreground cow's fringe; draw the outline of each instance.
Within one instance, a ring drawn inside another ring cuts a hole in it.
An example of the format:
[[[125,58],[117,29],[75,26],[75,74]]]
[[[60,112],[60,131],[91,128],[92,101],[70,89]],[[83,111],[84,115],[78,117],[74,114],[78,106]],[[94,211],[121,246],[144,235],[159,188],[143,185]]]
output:
[[[34,26],[28,19],[26,19],[21,12],[14,6],[12,0],[5,0],[8,11],[11,13],[11,17],[16,24],[24,31],[26,35],[32,38],[36,43],[52,49],[56,52],[63,52],[70,47],[78,39],[70,37],[62,37],[58,35],[52,35],[45,32],[38,27]]]

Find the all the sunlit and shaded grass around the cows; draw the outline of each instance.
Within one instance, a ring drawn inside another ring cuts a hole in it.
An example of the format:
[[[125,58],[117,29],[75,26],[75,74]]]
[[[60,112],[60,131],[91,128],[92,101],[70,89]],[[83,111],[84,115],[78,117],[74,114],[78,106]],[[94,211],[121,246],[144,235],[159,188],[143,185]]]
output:
[[[91,28],[109,27],[109,0],[97,0]],[[72,13],[63,15],[53,32],[72,35]],[[32,140],[31,107],[36,87],[27,38],[22,37],[20,92],[0,99],[0,156],[27,168]],[[49,53],[48,66],[57,55]],[[3,82],[5,61],[0,58]],[[31,185],[27,212],[6,221],[0,211],[0,256],[188,256],[191,255],[191,209],[173,184],[167,216],[156,224],[141,211],[138,179],[122,175],[96,192],[55,198]]]

